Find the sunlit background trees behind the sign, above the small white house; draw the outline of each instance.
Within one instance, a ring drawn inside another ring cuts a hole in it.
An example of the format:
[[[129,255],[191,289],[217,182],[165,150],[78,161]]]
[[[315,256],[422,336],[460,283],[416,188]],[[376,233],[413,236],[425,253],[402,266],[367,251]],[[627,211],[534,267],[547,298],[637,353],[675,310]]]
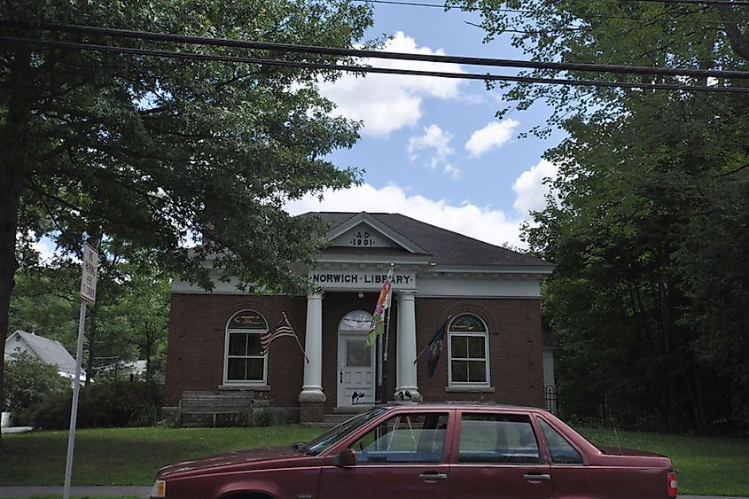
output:
[[[146,378],[159,378],[166,355],[169,277],[147,252],[125,261],[111,242],[101,250],[97,303],[87,308],[84,351],[84,358],[97,361],[84,368],[100,378],[117,363],[146,360]],[[75,351],[80,281],[80,264],[64,256],[52,266],[20,269],[11,301],[12,329],[33,329]]]

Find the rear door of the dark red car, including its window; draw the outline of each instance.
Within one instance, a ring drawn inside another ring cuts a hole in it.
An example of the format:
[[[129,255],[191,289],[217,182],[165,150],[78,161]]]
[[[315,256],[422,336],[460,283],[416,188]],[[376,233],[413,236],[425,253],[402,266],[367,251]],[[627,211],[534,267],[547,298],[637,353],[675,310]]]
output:
[[[549,499],[550,466],[529,415],[464,410],[450,464],[450,497]]]

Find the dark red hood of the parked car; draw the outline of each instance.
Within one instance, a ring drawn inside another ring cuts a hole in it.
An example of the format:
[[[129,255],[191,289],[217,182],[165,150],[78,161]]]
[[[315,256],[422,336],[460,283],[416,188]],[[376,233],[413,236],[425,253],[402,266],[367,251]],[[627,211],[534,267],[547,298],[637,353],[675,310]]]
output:
[[[292,447],[255,448],[252,450],[236,450],[215,456],[204,456],[196,459],[188,459],[175,464],[168,464],[159,471],[159,478],[163,479],[174,475],[201,474],[214,468],[233,469],[262,469],[272,467],[278,461],[283,460],[284,466],[293,466],[308,461],[310,456],[301,454]]]

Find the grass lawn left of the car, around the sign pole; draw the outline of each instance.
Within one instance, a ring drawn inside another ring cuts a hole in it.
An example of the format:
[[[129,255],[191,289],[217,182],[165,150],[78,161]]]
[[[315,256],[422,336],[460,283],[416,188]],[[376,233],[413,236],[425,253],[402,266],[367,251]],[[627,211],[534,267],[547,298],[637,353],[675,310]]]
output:
[[[164,464],[242,448],[308,441],[320,428],[101,428],[75,438],[74,485],[150,485]],[[60,485],[65,481],[67,432],[3,435],[0,485]]]

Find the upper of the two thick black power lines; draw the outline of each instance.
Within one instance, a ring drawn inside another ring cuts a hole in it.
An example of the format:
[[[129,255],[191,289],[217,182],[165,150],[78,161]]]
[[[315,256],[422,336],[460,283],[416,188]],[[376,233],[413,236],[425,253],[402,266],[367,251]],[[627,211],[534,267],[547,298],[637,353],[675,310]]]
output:
[[[134,31],[111,27],[91,27],[57,23],[38,23],[35,25],[16,23],[0,19],[0,26],[38,28],[47,31],[73,32],[78,34],[105,35],[114,38],[132,38],[157,42],[188,43],[209,45],[222,48],[241,48],[261,51],[291,52],[325,56],[353,58],[383,58],[404,60],[408,62],[434,62],[442,64],[461,64],[465,66],[516,67],[525,69],[548,69],[554,71],[580,71],[591,73],[639,74],[645,76],[690,76],[695,78],[749,78],[749,71],[689,69],[651,66],[620,66],[608,64],[541,62],[508,58],[479,58],[467,56],[444,56],[390,51],[365,51],[340,47],[322,47],[317,45],[300,45],[293,43],[257,42],[251,40],[230,40],[226,38],[207,38],[204,36],[169,35],[147,31]]]

